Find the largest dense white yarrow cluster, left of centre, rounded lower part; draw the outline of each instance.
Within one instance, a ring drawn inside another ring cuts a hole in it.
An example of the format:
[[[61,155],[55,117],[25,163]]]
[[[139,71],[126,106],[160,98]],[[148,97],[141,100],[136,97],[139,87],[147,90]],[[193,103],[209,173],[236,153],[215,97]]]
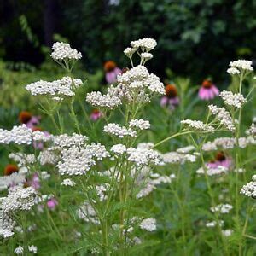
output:
[[[109,156],[106,148],[100,143],[91,143],[84,147],[72,146],[61,150],[61,160],[57,167],[61,175],[83,175],[96,165],[96,160]]]

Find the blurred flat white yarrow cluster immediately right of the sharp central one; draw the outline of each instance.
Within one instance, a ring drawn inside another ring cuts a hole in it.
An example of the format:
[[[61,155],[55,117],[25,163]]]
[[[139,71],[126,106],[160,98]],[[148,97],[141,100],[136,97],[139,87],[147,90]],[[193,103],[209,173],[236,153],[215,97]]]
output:
[[[194,163],[196,160],[196,155],[183,154],[183,153],[172,151],[172,152],[167,152],[165,154],[162,154],[162,160],[166,164],[182,164],[183,165],[187,161]]]

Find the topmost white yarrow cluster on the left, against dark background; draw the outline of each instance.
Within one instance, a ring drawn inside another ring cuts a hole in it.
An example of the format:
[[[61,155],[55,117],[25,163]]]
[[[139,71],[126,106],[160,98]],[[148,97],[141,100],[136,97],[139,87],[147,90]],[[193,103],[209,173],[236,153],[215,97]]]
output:
[[[79,60],[82,58],[82,54],[77,49],[72,49],[70,44],[56,42],[52,46],[51,57],[56,60]]]

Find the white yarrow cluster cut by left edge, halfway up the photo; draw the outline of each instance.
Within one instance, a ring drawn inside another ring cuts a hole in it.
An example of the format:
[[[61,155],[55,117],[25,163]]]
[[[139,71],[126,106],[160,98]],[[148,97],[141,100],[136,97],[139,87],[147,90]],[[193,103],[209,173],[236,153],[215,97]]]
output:
[[[0,143],[29,145],[32,143],[32,131],[31,129],[27,128],[26,125],[14,126],[10,131],[0,129]]]

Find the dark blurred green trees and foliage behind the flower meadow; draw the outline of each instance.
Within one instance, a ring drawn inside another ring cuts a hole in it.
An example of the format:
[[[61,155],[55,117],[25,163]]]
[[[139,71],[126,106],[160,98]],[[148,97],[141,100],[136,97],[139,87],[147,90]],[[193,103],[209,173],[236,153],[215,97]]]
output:
[[[207,76],[223,82],[229,61],[255,59],[255,0],[0,2],[0,59],[9,68],[17,69],[17,62],[39,67],[44,46],[61,38],[82,51],[90,73],[108,60],[127,66],[122,51],[143,37],[158,41],[149,69],[162,79],[168,67],[197,84]]]

